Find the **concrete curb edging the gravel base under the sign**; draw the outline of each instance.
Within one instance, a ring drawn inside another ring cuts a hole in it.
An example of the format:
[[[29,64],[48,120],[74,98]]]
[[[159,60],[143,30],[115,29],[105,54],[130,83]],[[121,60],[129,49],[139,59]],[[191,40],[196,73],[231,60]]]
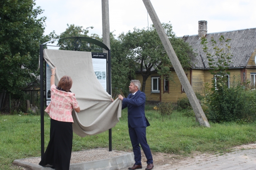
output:
[[[113,150],[113,151],[116,151],[116,150]],[[116,152],[120,152],[120,151],[116,151]],[[40,157],[36,157],[36,158],[40,158]],[[32,170],[52,170],[52,168],[44,168],[40,165],[22,161],[26,159],[34,159],[34,158],[14,160],[13,164],[16,166],[30,168]],[[112,158],[70,164],[69,169],[70,170],[119,170],[127,166],[132,166],[133,164],[134,164],[134,154],[127,153],[127,154],[115,156]]]

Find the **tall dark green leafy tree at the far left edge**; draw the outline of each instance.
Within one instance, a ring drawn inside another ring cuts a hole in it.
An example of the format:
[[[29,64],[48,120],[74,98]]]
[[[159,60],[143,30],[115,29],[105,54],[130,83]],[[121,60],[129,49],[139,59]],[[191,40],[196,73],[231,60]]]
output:
[[[12,94],[36,79],[46,17],[35,0],[0,1],[0,89]],[[45,40],[45,39],[44,39]]]

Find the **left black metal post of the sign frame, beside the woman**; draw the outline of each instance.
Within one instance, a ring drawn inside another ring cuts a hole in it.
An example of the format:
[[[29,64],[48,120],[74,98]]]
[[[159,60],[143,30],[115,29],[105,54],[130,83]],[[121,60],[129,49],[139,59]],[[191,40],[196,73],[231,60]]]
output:
[[[40,113],[41,113],[41,158],[44,156],[44,59],[43,45],[40,45]]]

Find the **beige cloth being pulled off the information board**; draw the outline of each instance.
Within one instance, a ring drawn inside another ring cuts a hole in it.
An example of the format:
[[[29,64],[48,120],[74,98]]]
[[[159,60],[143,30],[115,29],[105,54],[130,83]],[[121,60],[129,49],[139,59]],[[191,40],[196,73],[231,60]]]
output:
[[[72,112],[73,131],[78,136],[99,134],[119,122],[122,101],[111,102],[94,73],[91,52],[44,49],[44,59],[51,68],[56,67],[56,85],[64,75],[72,78],[70,91],[81,109],[80,113]]]

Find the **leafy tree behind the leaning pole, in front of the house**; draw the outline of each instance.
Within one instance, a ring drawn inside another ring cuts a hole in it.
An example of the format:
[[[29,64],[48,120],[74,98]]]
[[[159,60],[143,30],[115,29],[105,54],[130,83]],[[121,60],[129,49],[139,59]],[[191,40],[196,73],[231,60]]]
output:
[[[192,47],[175,36],[170,23],[162,25],[182,67],[190,68],[191,60],[195,55]],[[130,63],[127,66],[133,65],[136,67],[136,69],[131,70],[131,75],[135,74],[135,71],[139,71],[143,77],[143,92],[145,91],[146,80],[155,70],[158,71],[159,75],[167,75],[171,79],[172,65],[154,26],[141,30],[134,28],[133,32],[122,33],[118,38],[123,48],[126,49],[125,51],[127,51],[124,58]]]

